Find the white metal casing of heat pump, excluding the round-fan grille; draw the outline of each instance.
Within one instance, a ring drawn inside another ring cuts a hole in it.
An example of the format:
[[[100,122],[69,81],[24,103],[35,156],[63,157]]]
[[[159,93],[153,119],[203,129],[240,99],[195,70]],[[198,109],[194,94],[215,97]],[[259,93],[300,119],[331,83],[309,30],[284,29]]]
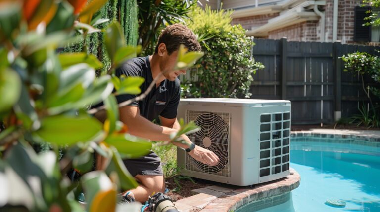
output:
[[[228,169],[223,169],[228,175],[207,173],[192,166],[190,156],[177,148],[181,174],[239,186],[286,177],[290,162],[290,106],[286,100],[181,99],[177,117],[186,123],[191,121],[188,114],[194,112],[228,114],[230,119]]]

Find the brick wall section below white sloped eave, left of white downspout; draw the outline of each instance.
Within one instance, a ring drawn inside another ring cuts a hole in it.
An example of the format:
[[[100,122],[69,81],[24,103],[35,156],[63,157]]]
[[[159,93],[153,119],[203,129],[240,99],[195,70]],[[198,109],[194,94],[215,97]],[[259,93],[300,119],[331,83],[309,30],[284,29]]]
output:
[[[269,32],[268,39],[281,39],[287,37],[288,41],[319,41],[318,21],[305,21],[289,27]]]

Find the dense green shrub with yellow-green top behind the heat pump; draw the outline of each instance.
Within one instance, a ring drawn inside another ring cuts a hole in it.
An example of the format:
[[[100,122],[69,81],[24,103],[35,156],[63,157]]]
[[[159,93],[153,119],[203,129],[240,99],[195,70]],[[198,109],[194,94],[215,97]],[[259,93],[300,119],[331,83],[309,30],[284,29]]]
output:
[[[231,11],[194,8],[188,27],[198,35],[205,55],[189,70],[183,97],[249,98],[252,74],[261,63],[251,58],[254,45],[241,25],[231,26]]]

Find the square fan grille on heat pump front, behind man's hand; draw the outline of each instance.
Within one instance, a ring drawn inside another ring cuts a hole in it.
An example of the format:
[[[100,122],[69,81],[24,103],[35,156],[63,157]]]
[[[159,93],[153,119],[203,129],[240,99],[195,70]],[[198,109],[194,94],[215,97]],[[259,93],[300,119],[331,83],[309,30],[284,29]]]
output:
[[[188,110],[186,117],[187,122],[193,120],[195,124],[200,127],[200,131],[188,135],[190,140],[196,145],[214,152],[220,158],[218,165],[209,166],[187,155],[186,169],[230,177],[228,151],[230,114]]]

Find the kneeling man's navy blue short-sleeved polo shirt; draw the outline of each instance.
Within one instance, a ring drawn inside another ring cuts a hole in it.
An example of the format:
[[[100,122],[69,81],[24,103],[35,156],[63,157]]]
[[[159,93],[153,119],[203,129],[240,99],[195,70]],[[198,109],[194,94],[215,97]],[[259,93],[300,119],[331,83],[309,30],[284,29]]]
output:
[[[122,66],[116,69],[117,77],[121,75],[128,76],[141,76],[145,78],[144,83],[140,86],[141,93],[144,93],[153,81],[152,71],[150,69],[149,56],[132,58],[125,62]],[[176,78],[175,81],[165,79],[161,84],[156,87],[153,86],[149,94],[138,102],[133,102],[131,106],[138,106],[140,115],[152,121],[159,115],[164,118],[176,118],[177,108],[181,98],[180,80]],[[122,94],[116,96],[117,102],[135,98],[138,95]]]

